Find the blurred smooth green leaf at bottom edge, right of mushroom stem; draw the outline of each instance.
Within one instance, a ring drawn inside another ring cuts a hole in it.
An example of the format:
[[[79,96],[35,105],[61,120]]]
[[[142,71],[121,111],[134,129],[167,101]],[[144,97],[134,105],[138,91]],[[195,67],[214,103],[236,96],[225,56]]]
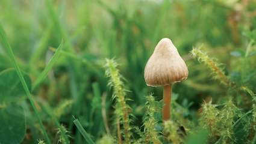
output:
[[[201,129],[197,131],[196,133],[191,134],[189,137],[187,137],[186,144],[198,144],[198,143],[207,143],[207,137],[208,137],[209,131],[208,129]]]

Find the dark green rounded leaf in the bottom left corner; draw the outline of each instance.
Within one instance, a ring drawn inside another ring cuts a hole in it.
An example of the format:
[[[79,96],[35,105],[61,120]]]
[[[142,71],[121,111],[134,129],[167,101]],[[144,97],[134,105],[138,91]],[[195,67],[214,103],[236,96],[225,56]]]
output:
[[[26,122],[22,107],[11,104],[0,108],[0,143],[21,143],[25,137]]]

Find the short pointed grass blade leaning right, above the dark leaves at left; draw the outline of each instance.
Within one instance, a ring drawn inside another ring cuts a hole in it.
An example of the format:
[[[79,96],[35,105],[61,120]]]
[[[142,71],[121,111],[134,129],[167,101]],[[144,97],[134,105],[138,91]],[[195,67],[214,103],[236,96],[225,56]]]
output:
[[[57,59],[60,56],[61,53],[61,49],[63,47],[63,40],[61,40],[60,45],[58,46],[57,50],[55,51],[54,55],[52,56],[52,58],[50,59],[50,61],[48,62],[48,65],[46,65],[45,70],[43,70],[43,72],[39,75],[39,77],[37,78],[36,82],[33,85],[33,90],[41,83],[43,82],[43,80],[45,80],[47,74],[49,73],[49,71],[51,70],[51,68],[54,66],[54,64],[57,62]]]

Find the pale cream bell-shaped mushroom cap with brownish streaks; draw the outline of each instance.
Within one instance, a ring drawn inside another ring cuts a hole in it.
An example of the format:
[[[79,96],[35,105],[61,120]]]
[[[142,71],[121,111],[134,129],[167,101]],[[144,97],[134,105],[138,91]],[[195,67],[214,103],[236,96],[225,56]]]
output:
[[[148,86],[165,86],[187,79],[189,71],[169,38],[163,38],[149,58],[144,77]]]

